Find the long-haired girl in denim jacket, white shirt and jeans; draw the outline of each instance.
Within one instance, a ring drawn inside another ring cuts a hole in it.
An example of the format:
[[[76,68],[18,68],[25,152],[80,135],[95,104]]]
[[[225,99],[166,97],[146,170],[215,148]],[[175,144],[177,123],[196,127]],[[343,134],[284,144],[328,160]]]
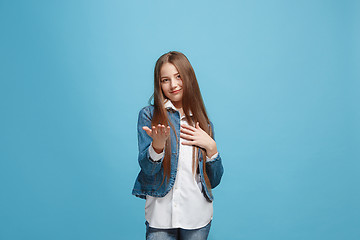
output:
[[[146,199],[146,239],[207,239],[213,195],[223,175],[214,127],[195,72],[180,52],[155,64],[154,104],[138,118],[140,173],[132,191]]]

